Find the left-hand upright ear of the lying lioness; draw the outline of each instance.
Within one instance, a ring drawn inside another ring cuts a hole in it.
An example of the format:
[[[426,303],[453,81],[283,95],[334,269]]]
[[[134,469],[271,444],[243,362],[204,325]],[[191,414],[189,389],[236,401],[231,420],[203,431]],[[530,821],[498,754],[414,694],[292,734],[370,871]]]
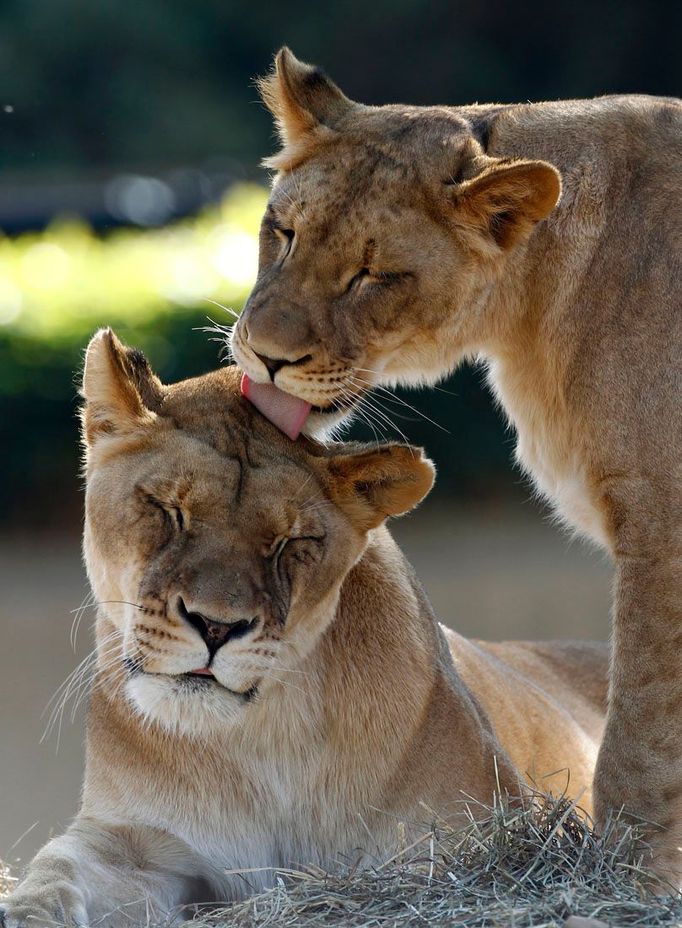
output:
[[[100,329],[85,352],[81,395],[83,440],[91,445],[102,434],[125,434],[152,422],[163,387],[141,351]]]

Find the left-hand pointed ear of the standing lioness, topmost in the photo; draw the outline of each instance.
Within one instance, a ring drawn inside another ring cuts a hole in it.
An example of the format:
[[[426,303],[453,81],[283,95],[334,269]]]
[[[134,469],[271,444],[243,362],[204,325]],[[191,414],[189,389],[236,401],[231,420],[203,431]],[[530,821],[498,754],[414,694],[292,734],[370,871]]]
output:
[[[275,56],[271,74],[258,81],[263,102],[275,117],[284,146],[313,142],[338,127],[354,106],[336,84],[288,48]]]

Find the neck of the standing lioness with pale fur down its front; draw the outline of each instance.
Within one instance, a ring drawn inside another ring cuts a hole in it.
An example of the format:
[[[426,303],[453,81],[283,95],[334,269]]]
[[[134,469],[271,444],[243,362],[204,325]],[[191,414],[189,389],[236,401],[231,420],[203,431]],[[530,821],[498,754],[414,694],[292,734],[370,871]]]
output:
[[[591,275],[612,225],[607,210],[627,190],[617,151],[622,133],[607,131],[611,117],[625,118],[617,104],[597,100],[508,107],[494,119],[489,153],[552,162],[563,193],[527,245],[509,256],[476,345],[517,430],[517,460],[559,516],[606,547],[609,531],[590,490],[589,435],[571,391],[604,302]]]

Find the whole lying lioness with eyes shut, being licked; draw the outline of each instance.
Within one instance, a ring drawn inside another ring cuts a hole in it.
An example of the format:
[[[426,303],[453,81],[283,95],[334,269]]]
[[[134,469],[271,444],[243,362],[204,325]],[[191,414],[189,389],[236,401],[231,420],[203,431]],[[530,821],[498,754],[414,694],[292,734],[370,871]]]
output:
[[[456,825],[520,774],[589,789],[606,648],[442,629],[383,526],[429,491],[430,462],[291,442],[238,379],[163,386],[112,332],[89,346],[83,803],[6,928],[130,925],[271,868],[376,859],[398,822]]]

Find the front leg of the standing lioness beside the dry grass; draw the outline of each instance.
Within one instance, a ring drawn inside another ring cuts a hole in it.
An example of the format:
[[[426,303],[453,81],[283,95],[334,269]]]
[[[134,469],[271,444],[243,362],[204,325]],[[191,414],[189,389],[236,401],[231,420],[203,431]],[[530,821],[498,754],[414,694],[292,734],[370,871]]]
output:
[[[665,534],[665,533],[663,533]],[[674,534],[674,529],[673,529]],[[660,543],[660,539],[659,539]],[[665,552],[665,553],[663,553]],[[648,823],[652,864],[682,880],[682,553],[617,558],[609,711],[595,776],[604,822]]]

